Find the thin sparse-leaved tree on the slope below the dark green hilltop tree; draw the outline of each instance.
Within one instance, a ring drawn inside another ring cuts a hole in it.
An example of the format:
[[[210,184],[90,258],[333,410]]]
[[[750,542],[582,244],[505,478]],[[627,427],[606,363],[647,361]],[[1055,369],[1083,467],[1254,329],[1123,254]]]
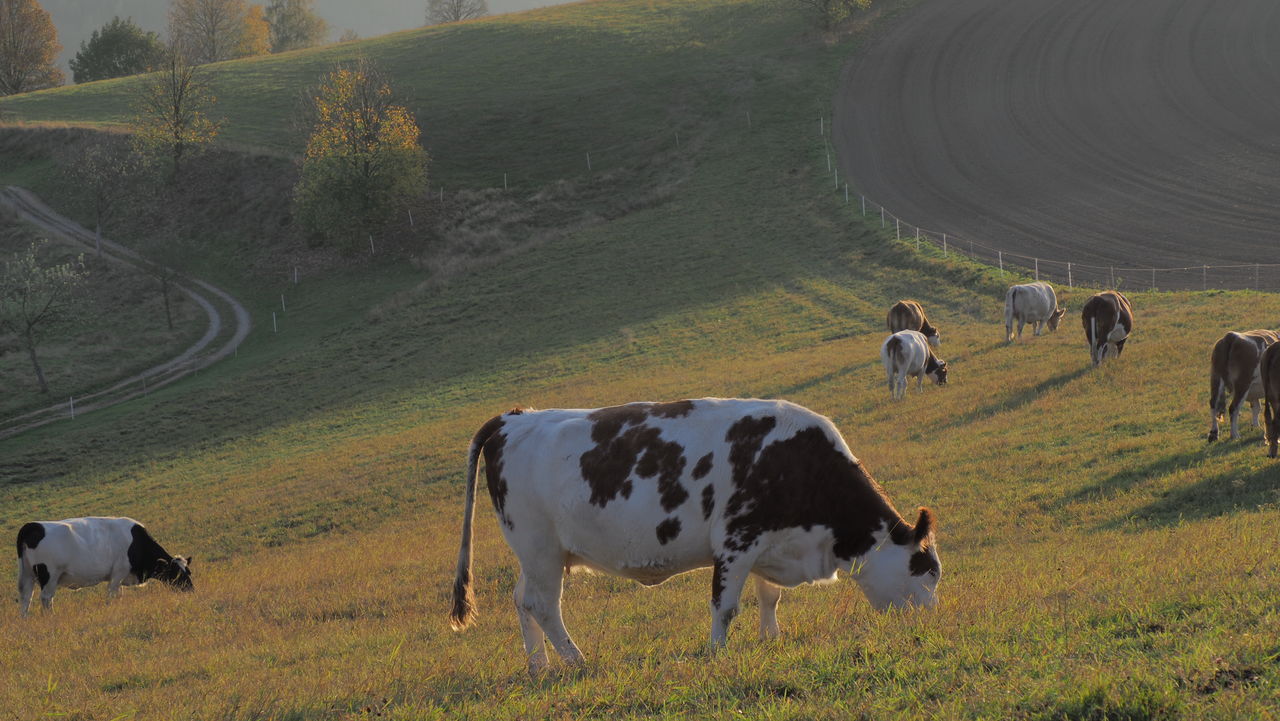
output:
[[[220,123],[209,117],[215,102],[200,69],[169,47],[160,70],[147,76],[134,96],[134,150],[148,160],[165,159],[177,184],[182,163],[218,136]]]

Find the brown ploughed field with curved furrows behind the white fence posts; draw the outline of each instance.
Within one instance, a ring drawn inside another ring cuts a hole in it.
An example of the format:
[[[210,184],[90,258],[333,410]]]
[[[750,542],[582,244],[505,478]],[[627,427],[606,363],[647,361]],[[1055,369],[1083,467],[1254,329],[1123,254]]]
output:
[[[840,169],[1006,252],[1277,263],[1276,37],[1275,0],[923,0],[845,68]]]

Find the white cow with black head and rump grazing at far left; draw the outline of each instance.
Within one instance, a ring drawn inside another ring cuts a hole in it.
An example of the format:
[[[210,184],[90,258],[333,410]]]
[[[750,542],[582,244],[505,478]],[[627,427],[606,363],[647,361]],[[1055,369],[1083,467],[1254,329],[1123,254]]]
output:
[[[40,583],[40,603],[52,608],[59,587],[84,588],[106,581],[108,598],[120,585],[161,580],[195,590],[191,558],[170,556],[133,519],[86,517],[31,523],[18,530],[18,604],[26,616]]]

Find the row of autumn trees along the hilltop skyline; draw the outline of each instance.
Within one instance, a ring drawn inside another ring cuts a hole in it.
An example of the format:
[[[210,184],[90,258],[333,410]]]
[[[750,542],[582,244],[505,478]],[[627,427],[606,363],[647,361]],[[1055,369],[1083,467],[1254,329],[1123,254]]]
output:
[[[142,29],[132,18],[113,18],[81,42],[70,60],[77,83],[118,78],[160,68],[166,47],[180,47],[193,64],[287,53],[323,45],[329,24],[315,0],[170,0],[168,40]],[[485,0],[428,0],[428,24],[479,18]],[[347,31],[339,41],[355,40]],[[50,14],[38,0],[0,0],[0,96],[65,82],[55,64],[63,46]]]

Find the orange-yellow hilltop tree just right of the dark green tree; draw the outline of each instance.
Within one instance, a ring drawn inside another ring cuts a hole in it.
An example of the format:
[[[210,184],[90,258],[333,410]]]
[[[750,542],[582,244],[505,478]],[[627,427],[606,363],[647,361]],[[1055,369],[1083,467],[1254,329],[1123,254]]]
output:
[[[265,54],[268,36],[262,8],[244,0],[173,0],[169,6],[169,41],[197,65]]]

